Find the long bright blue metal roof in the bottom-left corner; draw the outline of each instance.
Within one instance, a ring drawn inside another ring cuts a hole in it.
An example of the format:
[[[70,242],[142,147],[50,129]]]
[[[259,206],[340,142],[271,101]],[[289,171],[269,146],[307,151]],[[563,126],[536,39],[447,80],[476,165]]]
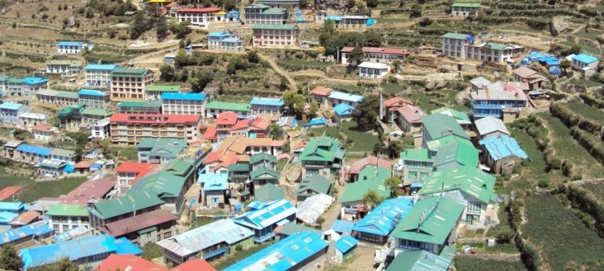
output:
[[[57,262],[62,258],[75,261],[104,253],[107,253],[107,255],[111,253],[140,255],[142,250],[126,238],[116,240],[112,236],[102,234],[19,251],[25,264],[23,265],[25,270]]]

